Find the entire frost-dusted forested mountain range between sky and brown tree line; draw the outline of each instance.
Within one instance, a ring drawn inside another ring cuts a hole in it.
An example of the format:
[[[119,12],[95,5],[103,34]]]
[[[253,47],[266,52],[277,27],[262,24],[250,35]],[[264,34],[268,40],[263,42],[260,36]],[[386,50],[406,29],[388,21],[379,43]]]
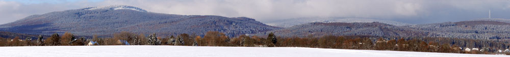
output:
[[[14,22],[1,24],[0,31],[30,35],[69,32],[77,34],[77,36],[111,36],[119,32],[157,33],[163,36],[179,34],[203,36],[209,31],[218,31],[229,37],[240,35],[263,36],[276,33],[276,35],[284,37],[335,35],[472,39],[510,38],[510,20],[499,18],[430,24],[405,24],[396,21],[341,17],[264,22],[267,24],[292,25],[277,27],[248,17],[163,14],[137,11],[136,7],[126,6],[86,10],[92,8],[31,15]]]

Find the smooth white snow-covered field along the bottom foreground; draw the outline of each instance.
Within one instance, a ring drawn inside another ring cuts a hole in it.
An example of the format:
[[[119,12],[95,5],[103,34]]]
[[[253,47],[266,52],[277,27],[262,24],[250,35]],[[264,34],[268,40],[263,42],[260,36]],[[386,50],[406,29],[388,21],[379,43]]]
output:
[[[21,46],[0,47],[0,56],[137,56],[137,57],[508,57],[510,55],[408,51],[324,49],[305,47],[210,46]]]

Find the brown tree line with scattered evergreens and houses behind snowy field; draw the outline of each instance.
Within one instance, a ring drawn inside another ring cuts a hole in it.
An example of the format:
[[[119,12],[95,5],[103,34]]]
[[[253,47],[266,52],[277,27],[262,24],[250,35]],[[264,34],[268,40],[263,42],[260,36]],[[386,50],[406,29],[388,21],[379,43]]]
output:
[[[92,42],[92,43],[91,43]],[[76,38],[72,33],[53,34],[20,39],[0,38],[0,46],[79,46],[79,45],[180,45],[180,46],[245,46],[245,47],[312,47],[335,49],[395,50],[444,53],[510,54],[498,52],[508,49],[508,40],[480,40],[440,37],[371,37],[371,36],[322,36],[322,37],[277,37],[273,33],[267,37],[246,36],[228,37],[220,32],[207,32],[205,36],[181,34],[158,37],[129,32],[115,33],[111,38]],[[465,48],[479,48],[467,51]],[[483,50],[482,50],[483,49]]]

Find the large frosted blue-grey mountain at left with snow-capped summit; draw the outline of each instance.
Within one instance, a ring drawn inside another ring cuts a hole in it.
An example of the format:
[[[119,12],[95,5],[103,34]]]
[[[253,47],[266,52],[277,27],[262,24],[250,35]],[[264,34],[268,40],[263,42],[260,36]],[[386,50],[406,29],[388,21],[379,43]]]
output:
[[[247,17],[174,15],[147,12],[132,6],[90,7],[32,15],[0,25],[0,31],[50,35],[108,36],[122,31],[159,35],[196,34],[219,31],[228,36],[281,29]]]

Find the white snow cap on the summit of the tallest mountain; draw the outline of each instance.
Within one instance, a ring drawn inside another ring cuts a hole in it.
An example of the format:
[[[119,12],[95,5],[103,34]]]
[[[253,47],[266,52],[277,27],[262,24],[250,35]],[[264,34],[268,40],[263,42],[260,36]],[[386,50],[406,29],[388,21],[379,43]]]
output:
[[[107,9],[107,10],[127,9],[127,10],[135,10],[135,11],[140,11],[140,12],[147,12],[141,8],[137,8],[137,7],[133,7],[133,6],[125,6],[125,5],[111,5],[111,6],[85,8],[85,10],[96,10],[96,9]]]

